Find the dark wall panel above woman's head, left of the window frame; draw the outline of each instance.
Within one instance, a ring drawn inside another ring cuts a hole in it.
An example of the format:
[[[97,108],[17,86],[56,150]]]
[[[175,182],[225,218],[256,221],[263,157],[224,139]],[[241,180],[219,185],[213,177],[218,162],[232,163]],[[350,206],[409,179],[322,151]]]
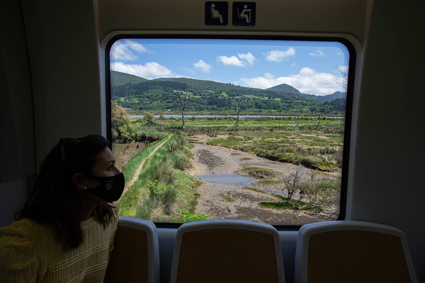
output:
[[[37,167],[62,137],[102,134],[99,42],[91,1],[22,0]]]

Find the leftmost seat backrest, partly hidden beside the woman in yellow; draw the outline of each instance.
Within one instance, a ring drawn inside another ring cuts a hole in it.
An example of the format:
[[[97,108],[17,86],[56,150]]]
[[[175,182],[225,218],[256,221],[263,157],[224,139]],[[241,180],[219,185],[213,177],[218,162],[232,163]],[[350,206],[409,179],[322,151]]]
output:
[[[159,247],[155,224],[119,216],[107,280],[159,282]]]

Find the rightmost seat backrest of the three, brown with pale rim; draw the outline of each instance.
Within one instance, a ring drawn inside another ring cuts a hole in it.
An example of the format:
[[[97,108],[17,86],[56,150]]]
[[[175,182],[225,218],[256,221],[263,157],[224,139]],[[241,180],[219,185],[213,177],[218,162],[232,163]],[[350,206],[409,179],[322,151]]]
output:
[[[362,221],[306,224],[298,233],[295,282],[417,282],[406,237]]]

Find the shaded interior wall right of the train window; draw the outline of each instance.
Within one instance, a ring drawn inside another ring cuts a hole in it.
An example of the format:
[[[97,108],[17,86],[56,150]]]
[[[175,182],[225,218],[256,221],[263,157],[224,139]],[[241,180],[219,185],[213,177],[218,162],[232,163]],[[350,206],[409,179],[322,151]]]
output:
[[[424,21],[419,2],[374,1],[365,40],[347,220],[402,230],[424,282]]]

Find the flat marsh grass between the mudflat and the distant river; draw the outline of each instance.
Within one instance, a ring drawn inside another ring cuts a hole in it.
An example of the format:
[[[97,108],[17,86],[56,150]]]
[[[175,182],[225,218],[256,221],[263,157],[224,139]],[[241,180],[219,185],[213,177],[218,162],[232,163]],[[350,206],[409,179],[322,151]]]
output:
[[[186,118],[184,130],[181,129],[181,118],[173,119],[156,120],[157,125],[136,125],[181,134],[192,143],[197,142],[192,136],[207,134],[217,137],[207,141],[210,145],[247,151],[270,160],[300,163],[320,171],[335,171],[342,166],[343,118],[326,118],[320,125],[312,120],[314,118],[303,118],[299,126],[294,126],[289,118],[248,117],[240,119],[244,123],[238,127],[232,125],[234,120],[226,117]],[[277,124],[279,121],[282,122],[280,125]],[[192,123],[202,125],[190,126]]]

